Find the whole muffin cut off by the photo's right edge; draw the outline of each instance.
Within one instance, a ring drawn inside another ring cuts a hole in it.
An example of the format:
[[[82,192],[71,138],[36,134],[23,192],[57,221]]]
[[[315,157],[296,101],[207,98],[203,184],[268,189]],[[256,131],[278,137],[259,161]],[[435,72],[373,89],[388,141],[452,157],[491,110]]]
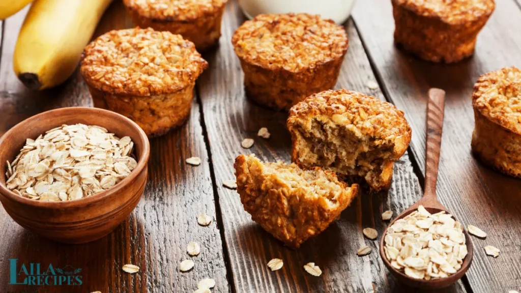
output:
[[[499,172],[521,178],[521,70],[482,75],[472,95],[472,152]]]

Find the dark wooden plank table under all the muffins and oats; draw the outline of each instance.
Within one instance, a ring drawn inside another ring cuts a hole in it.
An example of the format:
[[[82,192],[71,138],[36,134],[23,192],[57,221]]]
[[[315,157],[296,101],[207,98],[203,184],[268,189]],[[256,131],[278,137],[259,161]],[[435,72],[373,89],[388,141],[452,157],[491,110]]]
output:
[[[518,0],[519,1],[519,0]],[[35,236],[13,222],[0,209],[0,292],[192,292],[200,279],[212,277],[214,292],[409,292],[380,261],[378,242],[362,235],[365,227],[380,233],[385,210],[399,213],[421,196],[425,152],[426,93],[430,87],[447,92],[445,125],[438,180],[438,196],[464,224],[488,233],[473,238],[474,263],[463,279],[444,292],[508,292],[521,290],[521,180],[481,166],[470,154],[474,128],[470,94],[479,75],[506,66],[521,67],[521,4],[497,0],[497,7],[478,38],[474,57],[454,65],[424,62],[393,45],[390,1],[361,0],[345,23],[349,51],[337,88],[375,95],[405,111],[413,128],[409,151],[394,167],[389,192],[362,190],[341,219],[295,251],[268,235],[244,212],[238,194],[222,187],[233,179],[233,160],[255,153],[264,160],[290,161],[291,140],[287,114],[272,112],[244,97],[243,75],[231,46],[233,31],[245,20],[235,1],[228,4],[222,36],[216,50],[204,54],[210,66],[197,81],[191,118],[180,129],[151,140],[150,178],[140,204],[114,233],[84,245],[60,245]],[[0,59],[0,135],[19,121],[47,109],[92,106],[78,72],[63,86],[35,92],[27,90],[13,73],[11,59],[18,30],[27,8],[2,23]],[[113,3],[96,35],[110,29],[132,27],[120,1]],[[379,84],[367,87],[369,80]],[[268,140],[257,130],[267,127]],[[249,150],[243,138],[254,138]],[[194,167],[185,158],[199,156]],[[205,212],[214,221],[196,223]],[[189,258],[189,241],[201,244],[188,273],[178,270]],[[369,245],[373,253],[355,252]],[[501,250],[488,257],[486,245]],[[282,270],[270,272],[272,258],[284,261]],[[19,263],[52,263],[82,268],[81,286],[8,285],[9,259]],[[323,274],[314,277],[302,266],[315,262]],[[141,267],[137,274],[121,271],[123,264]]]

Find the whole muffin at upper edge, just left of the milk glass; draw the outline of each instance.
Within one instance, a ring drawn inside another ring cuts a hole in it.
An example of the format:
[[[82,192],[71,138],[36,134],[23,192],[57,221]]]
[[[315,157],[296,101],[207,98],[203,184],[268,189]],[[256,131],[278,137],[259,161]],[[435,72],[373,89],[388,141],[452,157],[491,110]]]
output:
[[[132,21],[142,28],[180,34],[200,52],[221,35],[227,0],[123,0]]]

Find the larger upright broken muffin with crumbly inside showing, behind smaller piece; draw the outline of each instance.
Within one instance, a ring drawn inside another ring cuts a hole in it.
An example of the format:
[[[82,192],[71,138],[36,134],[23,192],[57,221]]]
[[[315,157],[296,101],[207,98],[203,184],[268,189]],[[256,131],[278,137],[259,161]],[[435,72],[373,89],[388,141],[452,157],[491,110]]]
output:
[[[313,94],[291,108],[292,161],[343,179],[361,177],[389,189],[394,161],[407,150],[411,127],[403,112],[376,97],[349,91]]]

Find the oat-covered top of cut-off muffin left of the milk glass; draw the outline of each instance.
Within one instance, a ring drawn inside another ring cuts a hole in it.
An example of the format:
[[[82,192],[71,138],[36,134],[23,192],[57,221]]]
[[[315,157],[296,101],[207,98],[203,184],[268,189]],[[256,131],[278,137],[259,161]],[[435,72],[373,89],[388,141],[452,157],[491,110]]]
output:
[[[211,15],[228,0],[123,0],[139,15],[165,21],[194,20]]]

